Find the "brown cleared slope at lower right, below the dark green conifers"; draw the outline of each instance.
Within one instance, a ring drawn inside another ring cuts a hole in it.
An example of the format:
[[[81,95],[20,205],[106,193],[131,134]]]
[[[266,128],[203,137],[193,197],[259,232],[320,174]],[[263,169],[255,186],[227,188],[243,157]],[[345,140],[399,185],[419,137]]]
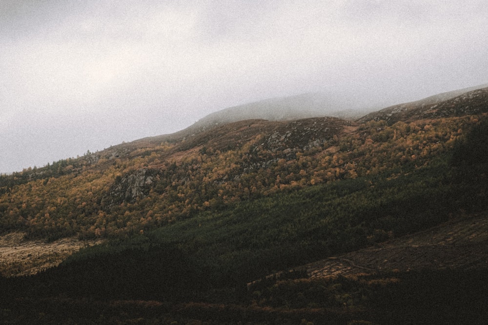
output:
[[[420,269],[488,269],[488,212],[304,266],[310,277]]]

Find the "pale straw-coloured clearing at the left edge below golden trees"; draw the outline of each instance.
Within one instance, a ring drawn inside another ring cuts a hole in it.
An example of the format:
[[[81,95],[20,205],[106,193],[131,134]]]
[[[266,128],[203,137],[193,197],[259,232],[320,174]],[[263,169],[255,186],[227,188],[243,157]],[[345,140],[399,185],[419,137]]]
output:
[[[2,276],[35,274],[59,265],[66,257],[83,247],[101,242],[102,240],[80,241],[71,237],[46,243],[40,240],[25,240],[22,232],[2,235],[0,236],[0,274]]]

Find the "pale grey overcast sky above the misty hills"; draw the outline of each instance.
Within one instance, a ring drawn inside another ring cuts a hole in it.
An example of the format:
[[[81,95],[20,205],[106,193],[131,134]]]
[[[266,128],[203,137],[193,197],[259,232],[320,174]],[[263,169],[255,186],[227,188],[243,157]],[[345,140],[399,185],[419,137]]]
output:
[[[486,0],[0,0],[0,172],[266,98],[484,84],[487,44]]]

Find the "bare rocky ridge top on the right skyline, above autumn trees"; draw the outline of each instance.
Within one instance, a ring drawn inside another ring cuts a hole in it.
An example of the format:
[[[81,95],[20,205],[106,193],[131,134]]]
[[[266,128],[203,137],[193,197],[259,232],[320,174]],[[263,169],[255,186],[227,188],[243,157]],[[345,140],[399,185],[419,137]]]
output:
[[[486,104],[488,84],[469,87],[465,89],[450,91],[434,96],[429,96],[417,101],[403,103],[386,107],[380,111],[372,112],[359,119],[359,122],[366,122],[369,120],[386,120],[394,123],[400,120],[406,121],[408,119],[426,118],[428,116],[435,116],[437,112],[440,115],[467,115],[469,113],[476,114],[484,111]],[[468,96],[469,98],[466,98]],[[463,112],[460,103],[466,103],[466,108],[470,112]],[[476,104],[478,102],[478,104]],[[448,108],[455,108],[456,111]],[[445,109],[447,108],[447,109]]]

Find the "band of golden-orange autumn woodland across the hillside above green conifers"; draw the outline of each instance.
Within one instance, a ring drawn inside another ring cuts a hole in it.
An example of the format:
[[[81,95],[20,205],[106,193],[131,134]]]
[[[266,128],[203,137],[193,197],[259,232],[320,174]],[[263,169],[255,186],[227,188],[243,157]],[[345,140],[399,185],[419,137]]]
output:
[[[276,193],[395,178],[430,168],[477,123],[472,115],[393,125],[254,121],[233,126],[241,138],[224,133],[206,143],[150,143],[125,156],[61,160],[0,176],[1,229],[48,240],[124,238]]]

